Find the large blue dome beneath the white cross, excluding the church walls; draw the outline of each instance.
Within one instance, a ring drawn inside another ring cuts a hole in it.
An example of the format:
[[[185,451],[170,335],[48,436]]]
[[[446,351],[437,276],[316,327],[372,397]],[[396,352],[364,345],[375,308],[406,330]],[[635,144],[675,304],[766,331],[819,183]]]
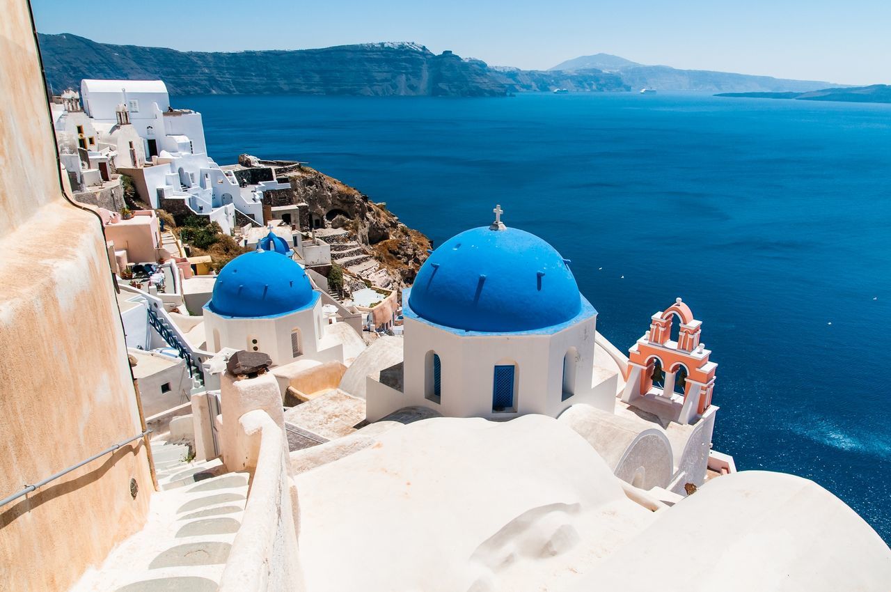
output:
[[[408,298],[413,314],[464,331],[511,333],[561,325],[582,311],[568,262],[516,228],[472,228],[430,254]]]

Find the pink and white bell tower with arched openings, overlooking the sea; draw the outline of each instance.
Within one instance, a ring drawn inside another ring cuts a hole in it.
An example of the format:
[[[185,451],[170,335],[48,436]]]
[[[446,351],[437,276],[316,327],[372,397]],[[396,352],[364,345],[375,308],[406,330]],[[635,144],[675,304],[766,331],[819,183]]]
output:
[[[672,341],[674,319],[680,322]],[[650,331],[628,350],[628,372],[622,400],[663,400],[673,403],[677,423],[693,423],[712,404],[717,364],[700,343],[702,323],[683,300],[650,318]],[[659,384],[661,382],[661,384]],[[678,391],[680,389],[680,391]]]

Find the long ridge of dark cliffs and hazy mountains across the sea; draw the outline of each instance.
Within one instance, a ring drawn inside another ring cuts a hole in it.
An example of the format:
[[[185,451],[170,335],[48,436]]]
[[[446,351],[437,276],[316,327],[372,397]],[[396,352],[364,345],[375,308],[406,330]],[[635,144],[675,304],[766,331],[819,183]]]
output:
[[[56,92],[83,78],[156,79],[171,95],[508,96],[567,89],[628,92],[641,88],[709,92],[797,93],[832,86],[706,70],[647,66],[598,53],[550,70],[490,66],[407,42],[293,51],[179,52],[96,43],[69,33],[38,35],[46,81]]]

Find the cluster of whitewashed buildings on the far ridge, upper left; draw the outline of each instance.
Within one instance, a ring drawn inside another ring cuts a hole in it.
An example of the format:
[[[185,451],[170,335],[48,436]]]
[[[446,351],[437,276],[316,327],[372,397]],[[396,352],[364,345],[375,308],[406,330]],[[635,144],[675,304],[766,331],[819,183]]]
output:
[[[85,79],[80,95],[56,97],[53,123],[80,201],[120,210],[123,173],[152,208],[206,216],[225,234],[236,211],[263,223],[262,191],[241,187],[208,157],[201,114],[171,107],[161,80]]]

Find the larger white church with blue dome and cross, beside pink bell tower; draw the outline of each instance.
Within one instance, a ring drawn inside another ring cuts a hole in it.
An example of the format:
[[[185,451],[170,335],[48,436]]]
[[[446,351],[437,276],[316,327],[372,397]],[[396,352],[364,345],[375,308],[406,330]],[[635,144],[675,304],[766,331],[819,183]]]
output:
[[[370,421],[406,405],[490,419],[612,411],[615,384],[593,375],[597,311],[570,262],[502,213],[439,246],[403,292],[403,391],[369,391]]]

